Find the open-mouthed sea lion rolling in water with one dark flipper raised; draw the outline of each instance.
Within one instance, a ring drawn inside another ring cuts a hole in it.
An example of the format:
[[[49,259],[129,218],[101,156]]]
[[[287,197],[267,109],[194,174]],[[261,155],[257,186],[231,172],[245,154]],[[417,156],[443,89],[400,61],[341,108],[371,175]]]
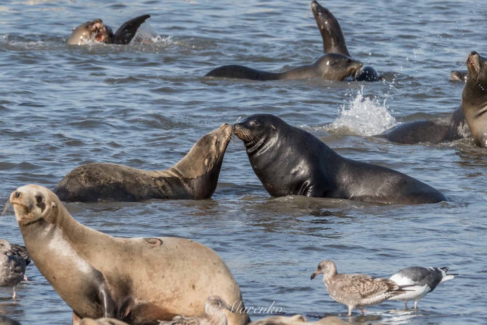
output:
[[[142,15],[132,18],[122,24],[115,34],[112,28],[105,25],[101,19],[87,21],[73,29],[68,39],[68,44],[84,45],[89,41],[106,44],[128,44],[140,25],[150,17]]]

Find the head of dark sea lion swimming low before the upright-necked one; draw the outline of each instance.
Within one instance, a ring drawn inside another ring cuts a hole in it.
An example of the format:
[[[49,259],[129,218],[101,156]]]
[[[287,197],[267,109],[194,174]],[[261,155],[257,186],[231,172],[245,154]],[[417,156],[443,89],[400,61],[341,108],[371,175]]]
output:
[[[358,76],[363,63],[339,53],[327,53],[313,64],[317,65],[318,75],[329,80],[343,80],[347,76]]]

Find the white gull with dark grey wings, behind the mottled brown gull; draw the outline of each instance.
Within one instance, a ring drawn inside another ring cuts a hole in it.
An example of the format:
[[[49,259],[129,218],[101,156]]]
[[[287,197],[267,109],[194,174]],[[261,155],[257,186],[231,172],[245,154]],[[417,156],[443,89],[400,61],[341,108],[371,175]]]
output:
[[[400,286],[408,286],[408,291],[398,296],[389,298],[389,300],[402,300],[406,302],[414,300],[414,309],[418,308],[418,301],[434,290],[438,284],[443,281],[453,279],[458,274],[448,274],[448,268],[422,268],[410,267],[403,268],[391,276],[391,280]]]

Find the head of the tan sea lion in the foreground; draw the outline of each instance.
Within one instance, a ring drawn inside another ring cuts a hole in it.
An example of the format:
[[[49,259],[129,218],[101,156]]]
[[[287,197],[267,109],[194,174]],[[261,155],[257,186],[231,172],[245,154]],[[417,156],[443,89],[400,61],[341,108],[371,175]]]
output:
[[[46,221],[55,223],[58,208],[62,207],[57,196],[38,185],[19,187],[10,194],[10,203],[14,207],[19,227]]]

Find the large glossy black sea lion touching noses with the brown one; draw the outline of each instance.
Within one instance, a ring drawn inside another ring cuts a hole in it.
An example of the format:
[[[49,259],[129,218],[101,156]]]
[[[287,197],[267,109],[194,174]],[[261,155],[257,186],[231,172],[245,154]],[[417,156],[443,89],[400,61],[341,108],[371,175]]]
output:
[[[256,114],[233,126],[250,165],[272,196],[305,195],[375,203],[421,204],[445,195],[392,169],[347,159],[279,117]]]

